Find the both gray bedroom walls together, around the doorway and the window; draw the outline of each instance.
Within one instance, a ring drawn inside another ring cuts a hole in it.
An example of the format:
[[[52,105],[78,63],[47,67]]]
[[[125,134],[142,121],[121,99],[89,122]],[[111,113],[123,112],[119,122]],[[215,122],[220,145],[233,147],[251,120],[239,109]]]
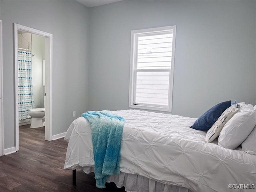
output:
[[[5,149],[15,146],[13,23],[53,34],[53,135],[66,132],[72,111],[128,108],[130,32],[143,28],[177,27],[172,114],[198,117],[224,100],[256,103],[255,1],[121,1],[89,9],[76,1],[1,0],[0,19]]]

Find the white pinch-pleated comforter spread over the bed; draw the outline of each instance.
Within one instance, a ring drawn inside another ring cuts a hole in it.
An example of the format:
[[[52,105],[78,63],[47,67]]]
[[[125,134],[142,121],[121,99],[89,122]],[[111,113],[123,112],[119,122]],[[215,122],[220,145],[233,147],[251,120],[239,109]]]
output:
[[[206,132],[189,128],[195,118],[140,110],[113,111],[126,119],[120,171],[194,192],[234,192],[256,185],[256,156],[206,144]],[[91,130],[80,117],[68,128],[65,169],[94,165]],[[236,189],[229,189],[232,184]],[[248,186],[247,186],[248,187]],[[240,187],[242,188],[242,187]]]

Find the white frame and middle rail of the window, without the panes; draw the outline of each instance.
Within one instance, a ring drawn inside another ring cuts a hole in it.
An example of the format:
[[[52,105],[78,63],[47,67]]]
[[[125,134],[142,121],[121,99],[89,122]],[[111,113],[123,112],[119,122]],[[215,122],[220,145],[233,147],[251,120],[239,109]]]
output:
[[[134,104],[136,98],[136,77],[137,72],[147,72],[148,69],[137,69],[137,56],[138,56],[138,37],[167,34],[172,31],[172,61],[170,69],[150,69],[150,71],[170,71],[169,73],[169,93],[168,105],[160,106],[155,104]],[[131,55],[130,55],[130,86],[129,86],[129,108],[138,108],[146,110],[158,110],[172,112],[172,95],[173,95],[173,80],[174,80],[174,56],[175,56],[175,40],[176,40],[176,25],[165,26],[158,28],[149,28],[141,30],[132,30],[131,32]]]

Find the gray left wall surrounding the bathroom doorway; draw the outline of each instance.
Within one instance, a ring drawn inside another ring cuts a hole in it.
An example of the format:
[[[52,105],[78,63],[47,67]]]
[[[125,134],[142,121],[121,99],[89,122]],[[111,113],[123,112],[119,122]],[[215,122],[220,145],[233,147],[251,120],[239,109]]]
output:
[[[88,108],[88,8],[76,1],[0,1],[3,21],[4,148],[15,146],[13,23],[53,34],[52,134]]]

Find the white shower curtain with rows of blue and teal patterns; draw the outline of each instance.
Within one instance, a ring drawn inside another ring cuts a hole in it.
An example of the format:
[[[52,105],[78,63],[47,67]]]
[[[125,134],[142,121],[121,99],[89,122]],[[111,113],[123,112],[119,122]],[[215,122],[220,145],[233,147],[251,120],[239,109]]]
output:
[[[28,109],[35,108],[32,85],[31,52],[18,51],[19,120],[30,118]]]

